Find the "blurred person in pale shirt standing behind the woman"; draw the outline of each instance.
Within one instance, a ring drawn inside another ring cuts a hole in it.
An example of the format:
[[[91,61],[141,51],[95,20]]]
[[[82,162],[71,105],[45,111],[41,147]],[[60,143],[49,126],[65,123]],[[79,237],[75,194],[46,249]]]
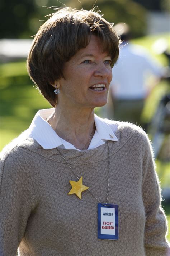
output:
[[[141,114],[145,99],[164,75],[163,68],[144,48],[129,42],[131,30],[128,24],[118,23],[114,29],[123,44],[119,60],[112,69],[110,93],[113,108],[109,110],[110,117],[142,126]]]

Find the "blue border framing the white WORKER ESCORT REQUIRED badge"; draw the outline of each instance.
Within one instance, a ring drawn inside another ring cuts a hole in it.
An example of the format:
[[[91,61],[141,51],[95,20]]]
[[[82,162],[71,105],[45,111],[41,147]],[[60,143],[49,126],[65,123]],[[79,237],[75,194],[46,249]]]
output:
[[[103,235],[101,234],[101,207],[114,208],[115,209],[115,235]],[[98,239],[118,240],[118,205],[98,203]]]

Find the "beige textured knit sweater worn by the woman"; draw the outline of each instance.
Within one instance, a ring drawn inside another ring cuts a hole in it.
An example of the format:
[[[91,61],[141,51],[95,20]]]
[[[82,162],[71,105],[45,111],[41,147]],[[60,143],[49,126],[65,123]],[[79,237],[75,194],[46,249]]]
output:
[[[0,255],[165,256],[166,219],[151,147],[138,127],[119,123],[110,146],[108,202],[119,207],[119,239],[97,238],[97,204],[88,190],[80,200],[77,181],[56,149],[45,150],[25,131],[2,152]],[[108,183],[107,143],[88,151],[61,149],[84,185],[102,202]]]

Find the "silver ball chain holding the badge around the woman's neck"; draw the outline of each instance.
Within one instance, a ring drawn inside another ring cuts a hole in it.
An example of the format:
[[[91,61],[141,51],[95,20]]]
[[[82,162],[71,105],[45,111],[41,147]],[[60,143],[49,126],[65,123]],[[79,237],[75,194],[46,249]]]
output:
[[[109,143],[108,141],[107,145],[108,145],[108,189],[107,189],[107,198],[106,198],[106,204],[108,203],[108,195],[109,195],[109,176],[110,176],[110,148],[109,148]],[[64,159],[64,161],[66,162],[66,164],[69,166],[70,170],[74,173],[74,175],[77,177],[77,179],[79,179],[79,177],[77,176],[77,174],[75,173],[75,171],[72,169],[72,167],[70,166],[70,164],[67,162],[66,158],[63,156],[63,154],[60,152],[60,150],[58,148],[56,148],[57,151],[60,153],[60,155],[62,156],[62,158]],[[83,184],[84,185],[84,184]],[[88,189],[89,193],[97,199],[97,201],[99,201],[102,205],[106,206],[104,203],[102,203],[92,192],[90,189]]]

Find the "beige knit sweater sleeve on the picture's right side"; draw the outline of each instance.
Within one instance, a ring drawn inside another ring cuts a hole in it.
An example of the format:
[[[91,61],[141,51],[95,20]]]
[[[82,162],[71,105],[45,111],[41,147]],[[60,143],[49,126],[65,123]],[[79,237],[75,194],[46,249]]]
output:
[[[146,256],[167,256],[168,243],[166,217],[161,208],[159,181],[155,172],[152,147],[147,135],[143,135],[143,184],[142,196],[145,207],[145,253]]]

